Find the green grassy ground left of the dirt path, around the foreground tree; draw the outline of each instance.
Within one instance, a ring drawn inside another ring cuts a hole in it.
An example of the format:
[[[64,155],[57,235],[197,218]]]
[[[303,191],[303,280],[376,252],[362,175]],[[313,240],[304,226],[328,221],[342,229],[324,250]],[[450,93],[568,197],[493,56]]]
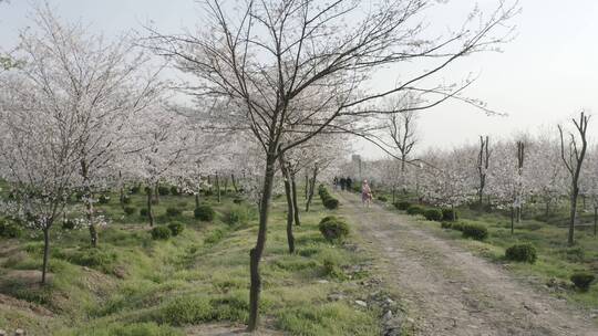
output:
[[[188,325],[244,323],[248,251],[255,243],[257,217],[251,207],[233,204],[227,197],[220,204],[214,198],[207,201],[217,211],[213,223],[193,218],[192,197],[162,197],[155,209],[158,224],[173,220],[165,217],[166,207],[185,209],[174,220],[187,229],[168,241],[153,241],[143,219],[124,216],[115,197],[101,206],[113,222],[101,232],[99,251],[86,248],[85,230],[64,231],[58,224],[52,231],[52,276],[47,287],[35,284],[40,238],[0,240],[0,246],[13,249],[0,259],[0,292],[54,314],[43,317],[0,305],[0,326],[23,327],[30,335],[183,335]],[[132,197],[131,206],[143,204],[142,195]],[[229,209],[240,214],[239,223],[223,222]],[[360,271],[352,280],[348,276],[349,267],[365,262],[365,256],[321,238],[317,223],[328,211],[319,201],[310,213],[302,213],[302,225],[296,228],[298,253],[288,254],[283,210],[279,198],[262,263],[265,324],[293,335],[378,335],[380,309],[353,303],[368,294],[359,283],[370,274]],[[327,298],[339,293],[343,298]]]

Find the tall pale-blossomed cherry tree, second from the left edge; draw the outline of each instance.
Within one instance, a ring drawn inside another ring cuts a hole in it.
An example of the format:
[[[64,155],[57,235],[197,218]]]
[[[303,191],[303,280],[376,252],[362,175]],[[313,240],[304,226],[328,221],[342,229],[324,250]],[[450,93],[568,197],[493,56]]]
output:
[[[126,36],[105,43],[81,24],[60,22],[50,8],[40,8],[35,30],[21,34],[21,72],[49,99],[61,101],[61,112],[72,119],[80,156],[80,179],[91,244],[99,242],[94,203],[109,189],[115,167],[127,150],[132,118],[156,103],[164,90],[156,73],[146,73],[150,57]]]

